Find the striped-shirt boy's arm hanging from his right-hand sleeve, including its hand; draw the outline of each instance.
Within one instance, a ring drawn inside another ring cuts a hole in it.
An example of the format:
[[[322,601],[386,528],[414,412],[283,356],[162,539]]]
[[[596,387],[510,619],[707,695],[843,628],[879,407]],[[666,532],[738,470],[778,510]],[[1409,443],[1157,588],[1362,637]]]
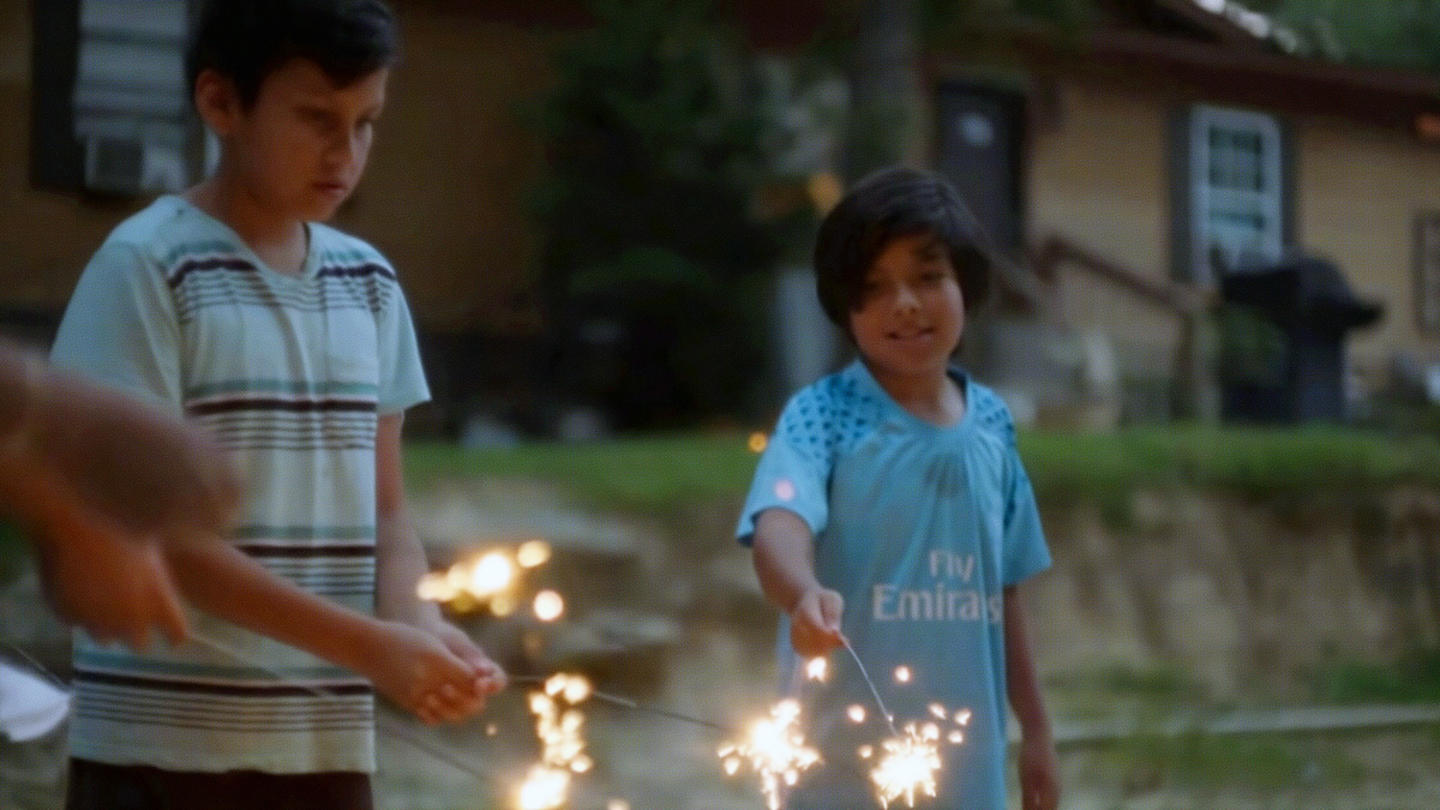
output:
[[[467,687],[445,685],[425,696],[428,715],[454,722],[481,711],[485,698],[504,689],[505,673],[469,636],[445,621],[439,605],[416,592],[429,565],[405,503],[403,425],[403,414],[387,414],[376,432],[376,613],[431,633],[472,667]]]

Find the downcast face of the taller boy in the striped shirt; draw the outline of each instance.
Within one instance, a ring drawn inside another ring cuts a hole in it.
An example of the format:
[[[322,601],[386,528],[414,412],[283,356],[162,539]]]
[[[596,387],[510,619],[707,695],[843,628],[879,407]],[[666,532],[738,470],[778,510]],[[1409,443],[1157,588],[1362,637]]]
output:
[[[364,173],[389,74],[337,88],[314,62],[291,59],[265,76],[248,110],[235,99],[207,123],[245,192],[272,212],[325,221]]]

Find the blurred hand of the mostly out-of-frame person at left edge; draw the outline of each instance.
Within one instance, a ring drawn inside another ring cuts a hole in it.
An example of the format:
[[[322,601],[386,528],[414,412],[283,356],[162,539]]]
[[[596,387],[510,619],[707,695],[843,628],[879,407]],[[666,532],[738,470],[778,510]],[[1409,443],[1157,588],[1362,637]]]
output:
[[[150,646],[154,630],[173,644],[184,641],[180,597],[154,543],[78,513],[62,530],[63,538],[37,543],[45,592],[60,617],[98,641],[118,640],[137,650]]]

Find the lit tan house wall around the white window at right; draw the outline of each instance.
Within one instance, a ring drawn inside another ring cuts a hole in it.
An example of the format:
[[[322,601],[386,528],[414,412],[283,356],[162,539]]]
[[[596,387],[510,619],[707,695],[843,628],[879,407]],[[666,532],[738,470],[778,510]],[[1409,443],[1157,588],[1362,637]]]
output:
[[[1169,280],[1171,115],[1204,99],[1103,78],[1058,79],[1053,91],[1053,111],[1030,140],[1031,242],[1064,235]],[[1380,382],[1397,352],[1440,360],[1440,337],[1420,333],[1414,301],[1414,221],[1440,209],[1440,147],[1344,120],[1282,120],[1295,150],[1296,244],[1336,259],[1358,293],[1385,304],[1378,326],[1355,333],[1355,369]],[[1061,291],[1073,323],[1115,340],[1126,373],[1169,373],[1179,337],[1172,316],[1081,272],[1066,271]]]

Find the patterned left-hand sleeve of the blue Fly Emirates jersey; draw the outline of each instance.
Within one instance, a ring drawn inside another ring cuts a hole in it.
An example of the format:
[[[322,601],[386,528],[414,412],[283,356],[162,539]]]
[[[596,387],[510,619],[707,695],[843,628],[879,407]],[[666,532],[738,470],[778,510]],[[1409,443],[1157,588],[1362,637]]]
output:
[[[736,539],[755,542],[756,517],[766,509],[788,509],[818,536],[829,519],[831,454],[824,438],[825,421],[802,414],[809,405],[796,396],[785,406],[775,435],[755,468],[750,493],[744,499]]]

